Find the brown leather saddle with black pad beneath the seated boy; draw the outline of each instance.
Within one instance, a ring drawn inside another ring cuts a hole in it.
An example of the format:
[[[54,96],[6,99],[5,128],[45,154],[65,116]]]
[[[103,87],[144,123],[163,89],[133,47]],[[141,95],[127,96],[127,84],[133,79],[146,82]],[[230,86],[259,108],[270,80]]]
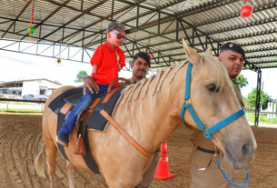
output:
[[[121,79],[122,80],[122,79]],[[97,131],[105,131],[107,120],[102,114],[101,110],[107,112],[107,114],[112,115],[114,112],[114,106],[117,104],[119,97],[121,96],[122,90],[124,88],[115,88],[111,89],[114,80],[109,88],[107,93],[102,94],[99,98],[94,100],[94,103],[89,106],[88,109],[83,110],[77,117],[75,128],[77,130],[77,140],[74,148],[74,153],[82,154],[84,162],[86,165],[94,172],[99,173],[98,167],[94,161],[94,157],[90,151],[89,142],[86,134],[87,129],[94,129]],[[128,80],[124,79],[126,84],[131,84]],[[67,90],[63,94],[58,95],[48,107],[55,113],[58,114],[58,123],[57,123],[57,133],[64,123],[66,114],[73,109],[74,105],[79,101],[79,98],[83,95],[83,88],[73,88]],[[69,114],[70,115],[70,114]],[[59,151],[64,155],[64,158],[67,158],[66,153],[64,152],[64,146],[58,144]]]

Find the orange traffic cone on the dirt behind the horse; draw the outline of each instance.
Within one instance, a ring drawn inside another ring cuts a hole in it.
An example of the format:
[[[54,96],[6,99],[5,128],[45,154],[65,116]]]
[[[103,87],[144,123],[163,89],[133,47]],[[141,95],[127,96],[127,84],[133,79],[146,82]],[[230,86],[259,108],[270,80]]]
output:
[[[176,175],[170,173],[168,156],[167,156],[167,144],[166,141],[161,145],[161,159],[158,163],[156,173],[154,175],[155,178],[160,180],[170,179],[175,177]]]

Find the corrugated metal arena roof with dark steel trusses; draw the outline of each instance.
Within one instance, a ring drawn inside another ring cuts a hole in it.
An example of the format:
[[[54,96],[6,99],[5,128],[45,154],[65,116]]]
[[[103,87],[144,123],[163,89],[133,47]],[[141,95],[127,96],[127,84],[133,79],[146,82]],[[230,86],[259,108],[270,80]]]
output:
[[[2,0],[2,38],[83,46],[104,43],[111,21],[132,30],[122,46],[126,56],[153,55],[152,67],[183,61],[181,39],[199,51],[218,54],[232,41],[246,51],[245,69],[277,67],[277,2],[255,0],[252,15],[240,15],[244,0],[35,0],[32,37],[27,34],[33,0]],[[252,3],[248,0],[248,3]]]

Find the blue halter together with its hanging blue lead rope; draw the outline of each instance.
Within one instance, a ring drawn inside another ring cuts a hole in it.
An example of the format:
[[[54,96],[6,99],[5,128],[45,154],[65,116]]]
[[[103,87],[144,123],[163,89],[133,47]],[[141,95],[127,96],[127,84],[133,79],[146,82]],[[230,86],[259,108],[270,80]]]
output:
[[[210,127],[209,129],[207,129],[201,122],[201,120],[199,119],[199,117],[197,116],[197,114],[195,113],[193,106],[191,104],[190,101],[190,93],[191,93],[191,77],[192,77],[192,68],[193,68],[193,64],[189,63],[188,64],[188,68],[186,70],[186,80],[185,80],[185,94],[184,94],[184,101],[183,101],[183,106],[181,109],[181,118],[183,120],[183,123],[185,124],[183,115],[184,115],[184,111],[185,109],[188,109],[189,113],[192,115],[194,122],[197,124],[197,126],[199,127],[199,129],[203,132],[203,136],[207,139],[207,140],[212,140],[213,139],[213,134],[217,131],[219,131],[220,129],[222,129],[224,126],[226,126],[227,124],[232,123],[233,121],[235,121],[236,119],[238,119],[239,117],[241,117],[244,114],[244,111],[241,109],[238,112],[230,115],[229,117],[223,119],[223,121],[221,121],[218,124],[214,124],[212,127]],[[187,104],[185,104],[185,102],[188,101]],[[245,172],[247,173],[247,178],[245,183],[243,184],[237,184],[237,183],[233,183],[226,175],[226,173],[223,170],[223,167],[221,165],[221,163],[219,162],[219,160],[216,160],[215,163],[218,165],[219,169],[221,170],[221,172],[223,173],[224,178],[226,179],[226,181],[228,183],[231,183],[233,186],[236,187],[245,187],[247,186],[247,184],[249,183],[250,180],[250,175],[248,173],[247,167],[245,167]]]

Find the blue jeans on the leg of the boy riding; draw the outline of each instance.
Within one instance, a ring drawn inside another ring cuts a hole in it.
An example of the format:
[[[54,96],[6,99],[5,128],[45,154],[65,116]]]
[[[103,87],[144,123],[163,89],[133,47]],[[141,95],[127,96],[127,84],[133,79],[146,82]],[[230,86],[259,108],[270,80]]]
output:
[[[95,92],[94,94],[91,94],[88,89],[86,90],[85,94],[81,96],[78,103],[74,106],[74,109],[68,115],[68,118],[62,125],[58,134],[71,134],[75,121],[78,117],[78,114],[80,114],[82,110],[87,109],[94,102],[94,100],[100,94],[103,94],[104,92],[106,92],[109,87],[108,84],[98,84],[98,86],[99,86],[98,94],[96,94]]]

